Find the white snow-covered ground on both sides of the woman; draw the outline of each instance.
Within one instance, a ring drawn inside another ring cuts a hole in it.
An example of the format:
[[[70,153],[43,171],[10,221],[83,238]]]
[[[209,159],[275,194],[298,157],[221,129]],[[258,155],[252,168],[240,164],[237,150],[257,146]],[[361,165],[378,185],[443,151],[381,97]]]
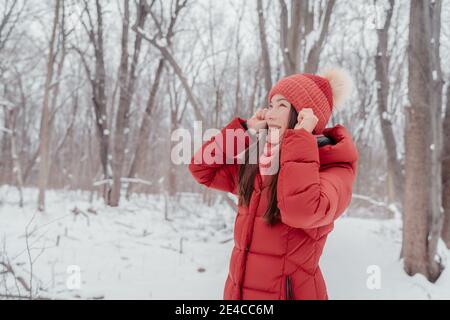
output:
[[[167,202],[157,195],[108,208],[101,199],[90,203],[86,192],[49,191],[47,212],[41,214],[35,210],[37,190],[26,189],[24,197],[21,209],[17,190],[0,187],[0,261],[33,293],[70,299],[222,298],[234,225],[225,203],[208,207],[195,194]],[[321,260],[330,299],[450,298],[448,269],[435,284],[403,272],[400,226],[396,220],[346,216],[336,222]],[[446,263],[442,243],[439,251]],[[11,272],[1,271],[0,266],[0,294],[28,294]]]

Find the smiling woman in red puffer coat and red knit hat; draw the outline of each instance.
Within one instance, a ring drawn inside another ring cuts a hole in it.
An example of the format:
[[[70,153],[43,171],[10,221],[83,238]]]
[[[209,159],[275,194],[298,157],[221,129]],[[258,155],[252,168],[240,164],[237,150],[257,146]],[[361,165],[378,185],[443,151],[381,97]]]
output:
[[[192,158],[199,183],[238,196],[224,299],[328,299],[319,258],[350,204],[358,152],[342,125],[325,125],[350,88],[341,69],[283,78],[268,109],[234,118]],[[252,164],[250,140],[265,128],[264,152]],[[319,147],[320,135],[333,144]]]

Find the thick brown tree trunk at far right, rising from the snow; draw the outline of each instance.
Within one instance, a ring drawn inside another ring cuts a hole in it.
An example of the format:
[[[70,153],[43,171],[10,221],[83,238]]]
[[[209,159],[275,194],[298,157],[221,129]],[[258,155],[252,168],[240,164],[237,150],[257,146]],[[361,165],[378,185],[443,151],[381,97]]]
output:
[[[439,35],[442,1],[411,1],[409,26],[409,99],[405,128],[404,269],[434,282],[442,271],[436,261],[442,222],[442,81]],[[433,46],[430,46],[433,39]]]

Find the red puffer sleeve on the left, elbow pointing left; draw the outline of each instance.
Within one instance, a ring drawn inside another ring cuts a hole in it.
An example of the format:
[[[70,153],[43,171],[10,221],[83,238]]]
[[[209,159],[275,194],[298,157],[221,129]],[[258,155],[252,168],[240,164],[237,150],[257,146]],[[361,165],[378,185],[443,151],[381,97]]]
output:
[[[189,171],[198,183],[237,194],[239,164],[236,156],[250,142],[244,122],[244,119],[234,118],[194,154]]]

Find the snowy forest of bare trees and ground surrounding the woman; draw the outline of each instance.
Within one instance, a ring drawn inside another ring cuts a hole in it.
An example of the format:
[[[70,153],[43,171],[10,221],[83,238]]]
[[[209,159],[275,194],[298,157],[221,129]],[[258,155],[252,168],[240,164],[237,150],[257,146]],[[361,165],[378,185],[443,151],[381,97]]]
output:
[[[173,133],[329,66],[359,152],[330,297],[450,298],[449,55],[449,0],[0,0],[0,299],[220,299],[236,199]]]

